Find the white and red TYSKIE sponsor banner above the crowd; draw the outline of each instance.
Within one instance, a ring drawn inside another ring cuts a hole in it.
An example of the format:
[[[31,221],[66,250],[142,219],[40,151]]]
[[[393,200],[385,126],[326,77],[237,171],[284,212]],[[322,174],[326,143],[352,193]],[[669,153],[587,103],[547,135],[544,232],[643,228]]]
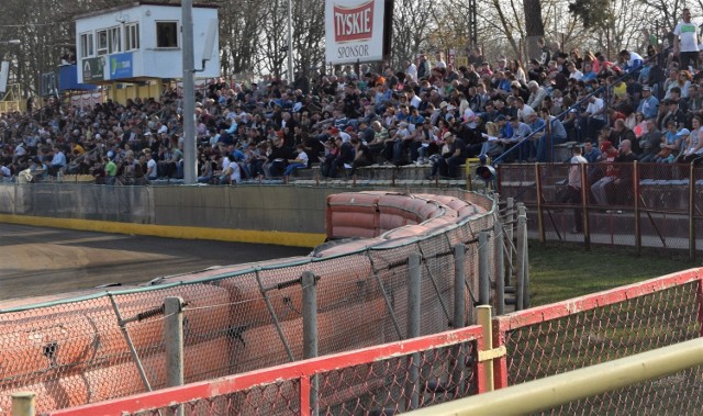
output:
[[[383,58],[383,0],[325,2],[325,59],[354,64]]]

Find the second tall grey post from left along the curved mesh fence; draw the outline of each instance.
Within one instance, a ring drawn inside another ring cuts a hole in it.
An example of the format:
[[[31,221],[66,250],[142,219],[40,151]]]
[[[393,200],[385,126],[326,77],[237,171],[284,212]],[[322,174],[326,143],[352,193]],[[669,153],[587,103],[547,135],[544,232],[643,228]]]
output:
[[[306,271],[303,273],[303,358],[317,357],[317,284],[315,274]],[[317,376],[310,380],[310,414],[317,415]],[[302,411],[302,409],[301,409]]]

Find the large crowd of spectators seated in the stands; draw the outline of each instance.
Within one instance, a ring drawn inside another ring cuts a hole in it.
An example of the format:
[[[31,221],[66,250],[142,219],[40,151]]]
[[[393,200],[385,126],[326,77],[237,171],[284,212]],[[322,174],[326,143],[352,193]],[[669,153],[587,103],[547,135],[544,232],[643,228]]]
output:
[[[314,164],[327,178],[373,164],[457,177],[467,157],[546,162],[566,142],[594,150],[626,142],[631,158],[691,161],[703,154],[701,72],[698,53],[678,45],[673,59],[655,59],[659,45],[611,61],[553,43],[525,66],[488,61],[477,48],[460,67],[435,54],[402,68],[297,74],[292,82],[213,79],[196,95],[198,181],[288,179]],[[107,184],[182,178],[181,104],[166,91],[91,108],[49,100],[40,113],[2,114],[0,173],[89,175]]]

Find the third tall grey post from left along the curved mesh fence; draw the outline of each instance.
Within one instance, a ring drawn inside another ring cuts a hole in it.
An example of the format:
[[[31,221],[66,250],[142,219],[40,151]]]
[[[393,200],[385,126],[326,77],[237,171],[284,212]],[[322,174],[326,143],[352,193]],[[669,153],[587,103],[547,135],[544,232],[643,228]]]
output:
[[[422,268],[421,257],[413,252],[408,258],[408,333],[405,338],[420,336],[420,304],[422,303]],[[415,352],[408,360],[408,382],[405,383],[405,411],[420,405],[420,353]]]

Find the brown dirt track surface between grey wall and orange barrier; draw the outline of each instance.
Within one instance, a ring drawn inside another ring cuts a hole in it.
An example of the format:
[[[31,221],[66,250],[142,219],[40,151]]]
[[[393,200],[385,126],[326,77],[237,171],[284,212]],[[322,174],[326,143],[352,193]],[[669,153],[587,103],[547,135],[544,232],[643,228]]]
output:
[[[0,224],[0,301],[56,295],[312,249]]]

